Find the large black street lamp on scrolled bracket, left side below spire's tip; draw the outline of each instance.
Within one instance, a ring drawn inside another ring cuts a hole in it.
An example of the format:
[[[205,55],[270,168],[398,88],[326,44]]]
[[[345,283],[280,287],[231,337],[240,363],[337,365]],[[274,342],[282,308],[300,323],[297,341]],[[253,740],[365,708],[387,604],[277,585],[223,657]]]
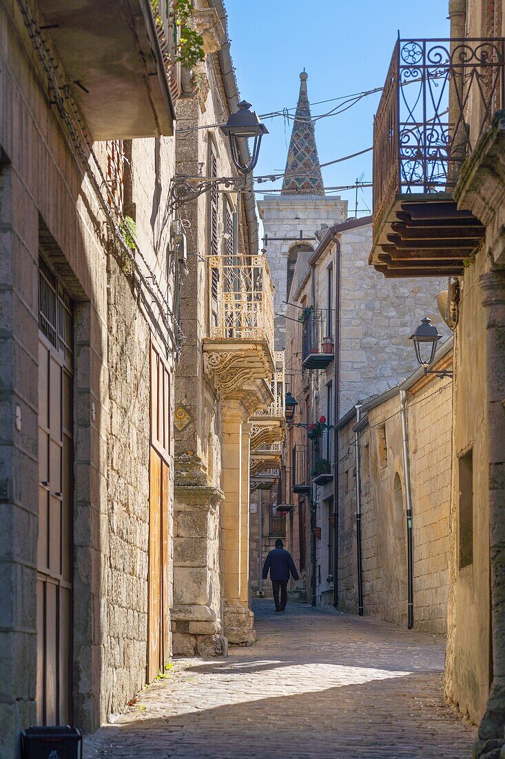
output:
[[[259,121],[254,111],[250,110],[250,102],[243,100],[238,105],[238,111],[231,113],[226,124],[221,125],[221,131],[227,135],[230,140],[231,159],[234,162],[239,177],[174,177],[170,185],[170,206],[171,209],[178,208],[183,203],[195,200],[200,195],[210,191],[232,191],[243,190],[246,186],[246,177],[254,168],[259,158],[259,146],[264,134],[268,134],[265,124]],[[252,143],[252,154],[249,161],[245,163],[240,160],[239,145],[241,140],[254,140]],[[221,189],[222,188],[222,189]]]

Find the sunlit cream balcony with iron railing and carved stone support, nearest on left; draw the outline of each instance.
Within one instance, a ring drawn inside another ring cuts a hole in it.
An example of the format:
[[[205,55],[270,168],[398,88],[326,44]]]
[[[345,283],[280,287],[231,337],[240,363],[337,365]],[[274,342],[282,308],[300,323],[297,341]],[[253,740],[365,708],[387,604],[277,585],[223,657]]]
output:
[[[274,287],[264,256],[209,257],[209,337],[205,372],[221,398],[243,400],[252,415],[273,402]]]

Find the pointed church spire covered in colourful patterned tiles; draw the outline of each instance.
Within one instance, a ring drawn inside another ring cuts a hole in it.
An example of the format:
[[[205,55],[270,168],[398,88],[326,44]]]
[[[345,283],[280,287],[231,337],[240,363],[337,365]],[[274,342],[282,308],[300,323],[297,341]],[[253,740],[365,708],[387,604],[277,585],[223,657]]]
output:
[[[300,97],[287,153],[286,173],[281,195],[324,195],[318,149],[315,144],[314,122],[307,96],[308,74],[300,74]]]

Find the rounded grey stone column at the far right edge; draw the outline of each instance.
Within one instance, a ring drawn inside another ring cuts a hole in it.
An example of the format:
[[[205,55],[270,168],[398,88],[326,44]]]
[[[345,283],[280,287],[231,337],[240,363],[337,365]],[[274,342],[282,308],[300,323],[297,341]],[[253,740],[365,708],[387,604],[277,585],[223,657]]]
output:
[[[489,543],[493,682],[478,727],[475,756],[505,757],[505,271],[481,275],[486,311],[486,422],[488,427]]]

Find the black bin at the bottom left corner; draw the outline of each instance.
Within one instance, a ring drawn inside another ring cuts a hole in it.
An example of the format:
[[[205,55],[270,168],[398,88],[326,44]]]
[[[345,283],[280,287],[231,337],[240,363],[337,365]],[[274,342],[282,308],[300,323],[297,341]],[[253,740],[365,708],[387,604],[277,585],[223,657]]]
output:
[[[82,759],[83,735],[70,725],[29,727],[21,732],[21,759]]]

